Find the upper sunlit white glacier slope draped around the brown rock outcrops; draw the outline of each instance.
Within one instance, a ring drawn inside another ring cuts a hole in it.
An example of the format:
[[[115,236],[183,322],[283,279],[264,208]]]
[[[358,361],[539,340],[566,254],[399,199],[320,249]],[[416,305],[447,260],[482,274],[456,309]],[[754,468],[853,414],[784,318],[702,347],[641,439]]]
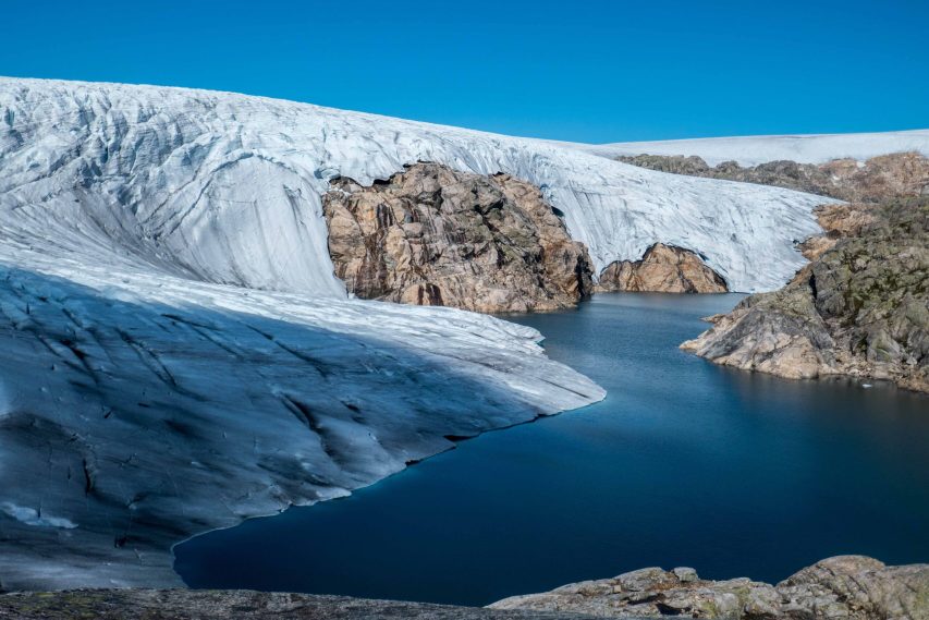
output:
[[[47,251],[173,275],[344,296],[319,196],[419,160],[509,172],[565,214],[599,271],[657,241],[731,288],[780,287],[822,198],[675,177],[543,141],[228,93],[0,78],[0,223]],[[97,260],[98,258],[94,258]]]

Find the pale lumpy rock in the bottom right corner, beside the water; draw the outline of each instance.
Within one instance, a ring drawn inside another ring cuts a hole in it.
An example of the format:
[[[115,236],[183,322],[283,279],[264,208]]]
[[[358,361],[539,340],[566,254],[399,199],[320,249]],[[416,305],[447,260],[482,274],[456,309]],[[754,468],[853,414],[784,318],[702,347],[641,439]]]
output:
[[[491,607],[601,618],[926,620],[929,564],[885,567],[871,558],[843,556],[818,562],[775,586],[748,579],[707,581],[693,569],[643,569],[506,598]]]

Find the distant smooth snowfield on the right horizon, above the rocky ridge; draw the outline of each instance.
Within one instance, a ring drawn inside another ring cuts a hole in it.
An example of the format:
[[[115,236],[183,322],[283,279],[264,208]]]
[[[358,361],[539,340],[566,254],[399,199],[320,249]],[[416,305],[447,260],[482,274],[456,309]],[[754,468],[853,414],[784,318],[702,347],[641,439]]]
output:
[[[929,130],[712,137],[603,145],[563,143],[563,145],[601,157],[643,154],[696,155],[704,158],[710,166],[723,161],[736,161],[741,166],[758,166],[781,159],[798,163],[824,163],[833,159],[846,158],[864,161],[879,155],[910,150],[929,157]]]

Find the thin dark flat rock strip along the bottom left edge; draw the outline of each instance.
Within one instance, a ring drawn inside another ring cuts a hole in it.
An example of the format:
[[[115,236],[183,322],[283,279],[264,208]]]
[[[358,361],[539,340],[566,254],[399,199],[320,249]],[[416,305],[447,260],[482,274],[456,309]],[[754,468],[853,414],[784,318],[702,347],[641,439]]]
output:
[[[545,611],[493,611],[345,596],[194,589],[78,589],[0,595],[3,620],[553,620]]]

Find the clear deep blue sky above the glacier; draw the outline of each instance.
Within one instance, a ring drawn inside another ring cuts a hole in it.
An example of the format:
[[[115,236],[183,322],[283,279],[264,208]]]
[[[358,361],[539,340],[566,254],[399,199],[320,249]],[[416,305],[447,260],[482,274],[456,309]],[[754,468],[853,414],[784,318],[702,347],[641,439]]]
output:
[[[583,142],[929,127],[929,0],[19,0],[0,74]]]

